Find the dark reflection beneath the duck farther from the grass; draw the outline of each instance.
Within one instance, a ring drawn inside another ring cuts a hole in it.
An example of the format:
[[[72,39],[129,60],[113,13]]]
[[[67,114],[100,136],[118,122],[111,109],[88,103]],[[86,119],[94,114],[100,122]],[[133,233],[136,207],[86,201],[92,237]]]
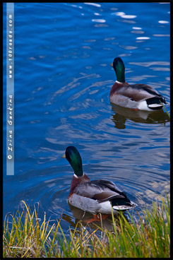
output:
[[[119,107],[112,104],[112,121],[117,129],[126,128],[126,119],[130,119],[133,122],[144,124],[165,124],[170,119],[166,112],[161,110],[145,111],[145,110],[130,110],[126,107]]]

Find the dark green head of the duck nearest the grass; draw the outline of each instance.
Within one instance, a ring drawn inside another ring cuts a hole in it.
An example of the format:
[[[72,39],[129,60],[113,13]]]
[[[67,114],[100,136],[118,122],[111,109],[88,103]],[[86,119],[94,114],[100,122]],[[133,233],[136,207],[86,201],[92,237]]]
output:
[[[74,173],[78,177],[83,175],[82,159],[76,147],[68,146],[66,148],[66,153],[62,156],[62,158],[66,158],[66,160],[68,160],[68,162],[70,163],[71,167],[74,170]]]

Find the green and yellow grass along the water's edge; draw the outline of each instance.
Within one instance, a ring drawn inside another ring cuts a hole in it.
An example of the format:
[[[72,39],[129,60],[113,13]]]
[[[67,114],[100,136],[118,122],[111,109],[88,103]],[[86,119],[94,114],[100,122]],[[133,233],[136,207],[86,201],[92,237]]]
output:
[[[143,211],[138,223],[130,213],[130,223],[124,215],[115,220],[114,231],[96,227],[85,228],[81,223],[69,229],[68,238],[61,228],[61,218],[50,225],[50,220],[39,222],[38,210],[8,215],[4,220],[3,256],[5,257],[170,257],[170,205],[166,194],[160,206],[153,203],[152,211]],[[137,212],[137,211],[136,211]],[[137,212],[138,213],[138,212]],[[11,218],[11,221],[9,220]],[[23,221],[22,221],[23,220]],[[98,235],[97,230],[100,230]]]

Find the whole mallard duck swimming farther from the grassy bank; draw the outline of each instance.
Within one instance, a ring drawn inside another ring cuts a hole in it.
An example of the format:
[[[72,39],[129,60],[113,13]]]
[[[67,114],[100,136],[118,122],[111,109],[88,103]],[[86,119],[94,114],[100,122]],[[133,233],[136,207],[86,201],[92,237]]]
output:
[[[111,64],[117,76],[112,89],[110,90],[110,102],[121,107],[129,107],[133,110],[159,110],[162,103],[166,104],[165,98],[162,97],[150,85],[129,84],[125,81],[125,66],[121,58],[117,57]]]

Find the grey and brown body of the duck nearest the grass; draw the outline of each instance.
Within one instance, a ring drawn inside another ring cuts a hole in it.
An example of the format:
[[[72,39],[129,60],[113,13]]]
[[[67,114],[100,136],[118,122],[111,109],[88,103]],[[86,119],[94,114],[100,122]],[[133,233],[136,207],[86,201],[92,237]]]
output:
[[[68,202],[93,214],[111,214],[112,211],[117,214],[118,211],[126,211],[137,206],[113,182],[104,179],[79,184],[68,198]]]

